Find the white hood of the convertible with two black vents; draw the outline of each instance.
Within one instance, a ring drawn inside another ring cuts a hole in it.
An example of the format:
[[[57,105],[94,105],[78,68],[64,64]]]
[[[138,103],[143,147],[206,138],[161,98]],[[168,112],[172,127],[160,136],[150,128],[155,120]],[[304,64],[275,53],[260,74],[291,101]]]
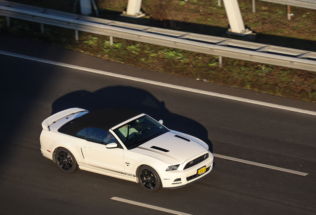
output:
[[[182,164],[202,152],[206,153],[207,149],[191,138],[170,131],[138,146],[135,151],[171,164]]]

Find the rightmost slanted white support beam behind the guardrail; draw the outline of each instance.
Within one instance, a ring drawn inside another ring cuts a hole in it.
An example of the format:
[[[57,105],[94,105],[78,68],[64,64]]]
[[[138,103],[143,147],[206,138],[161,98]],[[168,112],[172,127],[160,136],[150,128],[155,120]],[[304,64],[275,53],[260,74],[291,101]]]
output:
[[[230,23],[228,31],[233,34],[244,35],[250,34],[252,31],[244,28],[241,12],[237,0],[224,0],[225,9]]]

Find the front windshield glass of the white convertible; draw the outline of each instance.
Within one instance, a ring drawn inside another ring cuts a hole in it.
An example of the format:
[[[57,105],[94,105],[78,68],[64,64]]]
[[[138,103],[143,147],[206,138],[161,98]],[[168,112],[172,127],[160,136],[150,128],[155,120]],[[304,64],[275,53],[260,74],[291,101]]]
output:
[[[114,130],[127,149],[136,148],[168,131],[166,127],[147,115],[134,119]]]

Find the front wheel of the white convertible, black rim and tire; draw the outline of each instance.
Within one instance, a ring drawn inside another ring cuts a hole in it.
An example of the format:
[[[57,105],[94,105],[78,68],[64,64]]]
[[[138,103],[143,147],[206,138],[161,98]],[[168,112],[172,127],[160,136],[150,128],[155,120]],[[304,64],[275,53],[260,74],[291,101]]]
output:
[[[144,165],[139,169],[138,177],[140,184],[149,192],[156,192],[161,187],[161,180],[154,168]]]

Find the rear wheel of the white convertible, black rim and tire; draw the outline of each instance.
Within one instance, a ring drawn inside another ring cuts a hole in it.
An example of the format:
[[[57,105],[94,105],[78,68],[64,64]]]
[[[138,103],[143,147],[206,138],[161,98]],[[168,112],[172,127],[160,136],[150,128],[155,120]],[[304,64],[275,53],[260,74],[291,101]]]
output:
[[[56,163],[65,173],[73,173],[78,165],[74,155],[66,148],[58,148],[56,151]]]

